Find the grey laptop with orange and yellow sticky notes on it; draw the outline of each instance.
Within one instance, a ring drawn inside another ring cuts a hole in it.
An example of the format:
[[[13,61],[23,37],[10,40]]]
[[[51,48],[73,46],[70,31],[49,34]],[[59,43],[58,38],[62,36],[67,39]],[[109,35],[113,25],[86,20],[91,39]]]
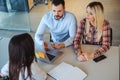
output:
[[[59,50],[50,50],[47,52],[38,52],[36,53],[37,60],[40,60],[45,63],[52,63],[55,61],[60,55],[62,54],[62,51]]]

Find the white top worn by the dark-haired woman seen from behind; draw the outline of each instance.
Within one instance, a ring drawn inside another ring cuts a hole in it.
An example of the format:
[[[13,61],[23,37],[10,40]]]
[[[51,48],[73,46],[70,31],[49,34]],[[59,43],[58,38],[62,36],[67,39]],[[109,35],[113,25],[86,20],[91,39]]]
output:
[[[46,73],[40,69],[35,61],[31,64],[31,72],[32,80],[46,80],[47,78]],[[9,76],[9,62],[3,66],[3,68],[1,69],[1,73]],[[26,80],[30,80],[30,78],[27,77],[27,69],[25,69],[25,78],[27,78]],[[21,72],[19,74],[19,80],[23,80]]]

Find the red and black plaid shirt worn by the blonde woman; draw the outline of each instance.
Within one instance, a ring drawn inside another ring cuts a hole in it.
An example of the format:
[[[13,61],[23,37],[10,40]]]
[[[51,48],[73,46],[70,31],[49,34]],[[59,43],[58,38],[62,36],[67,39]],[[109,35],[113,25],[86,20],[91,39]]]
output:
[[[81,49],[80,42],[81,40],[85,44],[92,45],[102,45],[99,49],[95,51],[94,57],[102,55],[110,48],[110,24],[108,21],[104,21],[102,28],[102,36],[99,41],[97,41],[97,28],[92,24],[89,26],[89,32],[86,33],[86,19],[82,19],[77,29],[77,34],[74,39],[75,51],[77,53],[77,49]]]

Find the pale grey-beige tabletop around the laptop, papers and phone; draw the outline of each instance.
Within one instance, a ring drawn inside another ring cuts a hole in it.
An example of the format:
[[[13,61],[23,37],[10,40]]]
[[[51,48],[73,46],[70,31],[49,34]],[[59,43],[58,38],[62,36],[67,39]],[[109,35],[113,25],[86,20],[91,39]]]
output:
[[[85,52],[94,51],[98,47],[99,46],[94,45],[82,45],[82,49]],[[63,49],[63,54],[52,64],[39,61],[39,66],[47,73],[61,62],[66,62],[79,67],[87,73],[85,80],[119,80],[119,47],[111,46],[111,48],[105,53],[107,58],[96,63],[93,60],[79,62],[76,58],[73,47],[70,46]],[[49,77],[48,80],[54,79]]]

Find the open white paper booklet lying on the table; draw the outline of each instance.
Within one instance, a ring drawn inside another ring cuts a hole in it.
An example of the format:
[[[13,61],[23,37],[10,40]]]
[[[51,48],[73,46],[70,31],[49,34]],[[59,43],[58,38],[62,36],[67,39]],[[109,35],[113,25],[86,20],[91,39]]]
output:
[[[56,80],[83,80],[87,74],[78,67],[62,62],[48,72]]]

